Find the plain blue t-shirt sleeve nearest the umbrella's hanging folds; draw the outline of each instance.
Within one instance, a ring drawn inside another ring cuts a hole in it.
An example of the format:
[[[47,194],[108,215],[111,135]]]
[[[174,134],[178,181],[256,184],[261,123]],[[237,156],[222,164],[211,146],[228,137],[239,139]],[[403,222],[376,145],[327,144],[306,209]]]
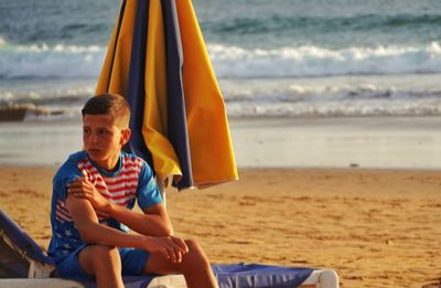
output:
[[[143,163],[138,179],[138,206],[143,211],[158,203],[162,203],[161,193],[153,178],[151,168]]]

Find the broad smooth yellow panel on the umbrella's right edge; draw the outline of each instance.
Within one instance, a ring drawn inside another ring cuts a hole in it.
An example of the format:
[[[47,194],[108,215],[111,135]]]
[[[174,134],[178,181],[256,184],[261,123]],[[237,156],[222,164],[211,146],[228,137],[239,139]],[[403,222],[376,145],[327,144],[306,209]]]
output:
[[[237,180],[227,115],[191,0],[176,1],[193,178],[197,186]]]

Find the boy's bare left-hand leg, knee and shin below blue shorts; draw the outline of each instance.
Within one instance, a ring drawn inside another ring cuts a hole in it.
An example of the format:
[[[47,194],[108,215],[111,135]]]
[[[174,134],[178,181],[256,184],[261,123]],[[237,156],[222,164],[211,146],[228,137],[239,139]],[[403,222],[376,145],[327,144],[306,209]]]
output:
[[[123,288],[118,248],[87,246],[78,254],[78,262],[87,274],[95,275],[98,288]]]

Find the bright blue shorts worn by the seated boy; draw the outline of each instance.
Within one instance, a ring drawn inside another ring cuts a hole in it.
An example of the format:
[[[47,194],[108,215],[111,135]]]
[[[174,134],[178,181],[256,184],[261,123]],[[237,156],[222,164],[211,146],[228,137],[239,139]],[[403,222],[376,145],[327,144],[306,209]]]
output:
[[[83,270],[78,262],[78,254],[85,247],[86,245],[78,247],[75,252],[56,264],[56,269],[58,270],[61,277],[76,278],[82,280],[95,279],[94,275],[89,275]],[[121,257],[122,275],[141,275],[150,254],[147,250],[136,248],[118,249],[119,256]]]

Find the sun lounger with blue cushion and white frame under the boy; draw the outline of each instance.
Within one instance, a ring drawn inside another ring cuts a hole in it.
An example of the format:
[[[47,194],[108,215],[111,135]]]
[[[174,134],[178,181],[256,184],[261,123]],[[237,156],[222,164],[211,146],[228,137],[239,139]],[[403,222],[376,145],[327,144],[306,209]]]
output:
[[[338,288],[334,270],[258,264],[213,265],[220,288]],[[182,275],[125,277],[126,288],[185,288]],[[95,287],[94,281],[56,277],[52,259],[15,222],[0,211],[0,287]]]

